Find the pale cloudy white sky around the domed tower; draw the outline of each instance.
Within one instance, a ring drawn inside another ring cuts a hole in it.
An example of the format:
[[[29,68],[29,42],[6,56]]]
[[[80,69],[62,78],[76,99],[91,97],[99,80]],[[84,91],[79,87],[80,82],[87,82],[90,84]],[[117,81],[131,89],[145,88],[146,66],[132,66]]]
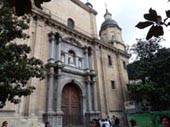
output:
[[[159,15],[164,19],[166,17],[165,11],[170,9],[170,2],[168,0],[81,0],[87,1],[93,5],[98,14],[96,16],[98,31],[102,22],[103,15],[108,11],[112,14],[112,19],[118,22],[122,28],[122,37],[124,43],[132,45],[136,43],[136,38],[146,37],[148,29],[138,29],[135,25],[139,21],[145,21],[143,14],[148,13],[149,9],[155,9]],[[170,27],[165,28],[164,38],[165,42],[161,44],[165,47],[170,47]]]

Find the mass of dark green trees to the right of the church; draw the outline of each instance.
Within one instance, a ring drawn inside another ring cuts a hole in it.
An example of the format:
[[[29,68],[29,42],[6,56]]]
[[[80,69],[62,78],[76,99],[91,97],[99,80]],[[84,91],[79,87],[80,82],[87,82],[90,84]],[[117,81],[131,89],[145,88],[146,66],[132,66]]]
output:
[[[152,110],[169,109],[170,49],[151,40],[138,40],[133,48],[138,60],[128,65],[129,78],[136,81],[128,86],[130,97],[137,103],[146,101]]]

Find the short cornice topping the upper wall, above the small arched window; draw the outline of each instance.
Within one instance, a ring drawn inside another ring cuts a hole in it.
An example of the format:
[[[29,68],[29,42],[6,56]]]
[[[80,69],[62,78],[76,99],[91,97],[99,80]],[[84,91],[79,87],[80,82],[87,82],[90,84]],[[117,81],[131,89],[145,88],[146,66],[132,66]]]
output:
[[[88,7],[87,5],[82,3],[80,0],[71,0],[71,1],[74,2],[75,4],[77,4],[78,6],[80,6],[81,8],[85,9],[86,11],[93,13],[94,15],[97,15],[97,11]]]

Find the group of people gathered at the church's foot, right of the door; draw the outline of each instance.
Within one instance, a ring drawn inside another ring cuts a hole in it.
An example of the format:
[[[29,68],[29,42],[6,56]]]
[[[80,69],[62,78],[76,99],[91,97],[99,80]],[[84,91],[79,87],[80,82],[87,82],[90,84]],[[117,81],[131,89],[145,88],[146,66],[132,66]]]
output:
[[[118,117],[113,116],[110,118],[109,116],[105,119],[93,119],[90,122],[90,127],[119,127],[120,120]]]

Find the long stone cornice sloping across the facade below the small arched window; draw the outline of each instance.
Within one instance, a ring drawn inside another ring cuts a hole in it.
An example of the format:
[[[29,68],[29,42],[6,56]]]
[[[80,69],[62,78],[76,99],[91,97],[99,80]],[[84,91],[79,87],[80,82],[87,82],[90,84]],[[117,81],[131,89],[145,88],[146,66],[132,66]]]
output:
[[[74,0],[74,1],[77,1],[77,0]],[[68,26],[60,23],[59,21],[57,21],[55,19],[52,19],[50,14],[47,14],[47,13],[43,12],[40,9],[33,8],[32,12],[33,12],[33,16],[37,16],[40,19],[43,19],[49,25],[52,25],[53,27],[56,27],[59,30],[65,32],[65,33],[69,33],[70,35],[77,38],[78,40],[82,40],[82,41],[84,41],[86,43],[89,43],[89,44],[91,44],[93,46],[94,45],[100,45],[104,49],[113,51],[113,52],[115,52],[117,54],[121,54],[121,55],[125,56],[126,58],[130,58],[130,55],[127,54],[126,52],[124,52],[122,50],[119,50],[119,49],[116,49],[112,45],[104,43],[102,40],[99,40],[96,37],[90,37],[90,36],[87,36],[87,35],[81,33],[80,31],[78,31],[76,29],[69,28]]]

